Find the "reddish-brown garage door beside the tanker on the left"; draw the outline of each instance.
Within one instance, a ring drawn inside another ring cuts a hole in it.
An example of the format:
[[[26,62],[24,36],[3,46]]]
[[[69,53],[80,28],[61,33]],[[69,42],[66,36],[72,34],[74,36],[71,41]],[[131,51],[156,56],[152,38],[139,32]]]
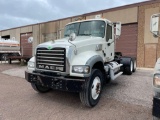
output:
[[[32,57],[32,43],[28,43],[28,38],[32,37],[32,33],[21,34],[21,54],[22,56]]]

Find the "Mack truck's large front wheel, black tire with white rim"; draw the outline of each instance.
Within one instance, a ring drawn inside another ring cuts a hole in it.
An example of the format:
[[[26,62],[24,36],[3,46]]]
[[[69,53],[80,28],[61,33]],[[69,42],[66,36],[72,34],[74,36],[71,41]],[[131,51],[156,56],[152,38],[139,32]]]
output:
[[[80,100],[87,107],[94,107],[99,102],[102,87],[103,74],[98,69],[93,69],[91,76],[86,79],[82,91],[79,93]]]

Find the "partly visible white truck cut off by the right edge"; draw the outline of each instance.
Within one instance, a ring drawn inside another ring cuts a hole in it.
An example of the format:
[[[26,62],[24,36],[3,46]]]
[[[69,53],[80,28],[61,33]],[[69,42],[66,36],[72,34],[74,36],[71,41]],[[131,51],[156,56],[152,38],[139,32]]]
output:
[[[150,31],[155,38],[160,37],[159,17],[160,13],[153,14],[150,20]],[[154,67],[154,75],[152,83],[154,90],[153,109],[152,109],[153,120],[160,120],[160,58],[158,58]]]

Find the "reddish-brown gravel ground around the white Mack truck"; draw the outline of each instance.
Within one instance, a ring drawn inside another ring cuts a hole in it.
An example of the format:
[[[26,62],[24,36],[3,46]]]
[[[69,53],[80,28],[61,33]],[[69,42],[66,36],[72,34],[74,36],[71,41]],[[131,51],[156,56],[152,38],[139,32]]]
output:
[[[35,92],[18,64],[0,64],[0,120],[152,119],[152,70],[120,76],[104,87],[96,107],[86,108],[77,93]]]

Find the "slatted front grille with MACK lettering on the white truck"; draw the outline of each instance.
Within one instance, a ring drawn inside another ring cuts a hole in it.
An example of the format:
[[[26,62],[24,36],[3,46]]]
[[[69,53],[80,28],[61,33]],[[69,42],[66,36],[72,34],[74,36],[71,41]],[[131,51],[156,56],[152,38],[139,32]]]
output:
[[[66,49],[65,48],[37,48],[36,67],[38,69],[65,72]]]

